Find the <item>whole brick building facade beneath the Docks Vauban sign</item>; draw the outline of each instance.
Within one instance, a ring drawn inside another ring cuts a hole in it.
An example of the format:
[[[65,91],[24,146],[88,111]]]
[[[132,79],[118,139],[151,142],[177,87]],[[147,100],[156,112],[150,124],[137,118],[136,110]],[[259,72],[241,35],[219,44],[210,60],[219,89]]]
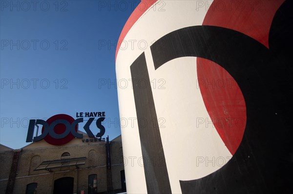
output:
[[[121,136],[109,142],[108,151],[106,141],[85,133],[84,139],[62,146],[44,140],[18,150],[0,145],[0,194],[114,194],[125,190]]]

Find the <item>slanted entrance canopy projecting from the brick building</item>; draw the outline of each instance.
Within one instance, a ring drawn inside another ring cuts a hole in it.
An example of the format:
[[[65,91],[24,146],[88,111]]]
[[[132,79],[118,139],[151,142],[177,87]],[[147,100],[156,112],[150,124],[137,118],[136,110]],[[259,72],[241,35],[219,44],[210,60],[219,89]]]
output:
[[[56,159],[43,161],[34,171],[47,170],[51,171],[54,168],[62,168],[68,166],[76,166],[85,164],[85,157],[74,159]]]

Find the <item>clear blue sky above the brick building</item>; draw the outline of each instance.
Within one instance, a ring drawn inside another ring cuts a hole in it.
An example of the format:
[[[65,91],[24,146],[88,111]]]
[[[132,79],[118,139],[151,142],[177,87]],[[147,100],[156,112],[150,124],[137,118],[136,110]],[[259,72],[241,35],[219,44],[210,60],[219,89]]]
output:
[[[31,118],[86,111],[105,111],[104,137],[121,134],[117,88],[99,82],[115,82],[113,44],[139,2],[0,0],[1,144],[27,145]]]

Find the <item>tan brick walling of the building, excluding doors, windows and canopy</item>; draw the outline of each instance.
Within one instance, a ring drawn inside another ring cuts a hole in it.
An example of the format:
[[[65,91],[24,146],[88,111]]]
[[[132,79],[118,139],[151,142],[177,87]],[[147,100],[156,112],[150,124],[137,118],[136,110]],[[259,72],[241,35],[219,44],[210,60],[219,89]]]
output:
[[[117,158],[115,155],[119,154],[119,157],[121,157],[121,141],[111,142],[111,146],[111,156]],[[13,157],[13,151],[6,152],[5,154],[4,152],[0,152],[0,194],[5,193]],[[85,165],[80,165],[78,166],[79,168],[71,166],[52,169],[53,172],[46,170],[34,171],[34,169],[43,161],[61,159],[61,155],[64,152],[70,153],[70,158],[86,157]],[[13,194],[25,194],[26,185],[30,183],[38,183],[37,193],[52,194],[54,181],[62,177],[74,178],[74,193],[80,194],[83,190],[84,194],[87,194],[88,176],[92,174],[97,175],[98,193],[107,192],[106,154],[104,141],[44,148],[38,148],[36,144],[34,144],[31,147],[24,147],[20,154]],[[123,164],[119,164],[118,161],[113,160],[112,162],[114,163],[114,166],[111,167],[111,175],[114,180],[112,185],[114,186],[114,190],[119,190],[121,189],[120,171],[124,170],[124,166]]]

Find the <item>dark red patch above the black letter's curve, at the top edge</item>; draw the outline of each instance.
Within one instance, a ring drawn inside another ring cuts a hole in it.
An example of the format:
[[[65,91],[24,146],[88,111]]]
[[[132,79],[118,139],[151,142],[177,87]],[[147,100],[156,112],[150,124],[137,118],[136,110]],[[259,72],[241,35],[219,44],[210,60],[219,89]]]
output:
[[[241,32],[269,48],[272,19],[285,0],[214,0],[203,25],[219,26]]]

